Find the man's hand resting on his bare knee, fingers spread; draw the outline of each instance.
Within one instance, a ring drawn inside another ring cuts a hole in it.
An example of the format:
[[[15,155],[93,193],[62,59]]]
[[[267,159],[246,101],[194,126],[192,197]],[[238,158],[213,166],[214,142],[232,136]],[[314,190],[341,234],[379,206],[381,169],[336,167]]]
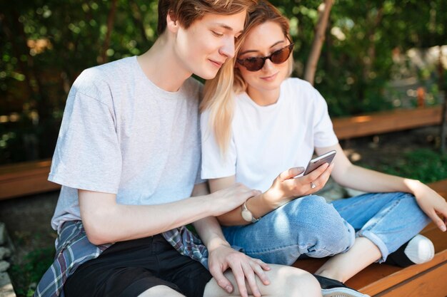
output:
[[[231,282],[224,276],[224,271],[228,268],[233,272],[242,297],[248,296],[246,282],[250,286],[253,296],[261,297],[259,288],[256,285],[256,276],[258,276],[264,285],[270,283],[264,272],[270,270],[267,264],[259,259],[253,259],[239,251],[231,249],[228,245],[221,244],[214,249],[209,249],[208,263],[211,275],[216,279],[219,286],[224,288],[228,293],[233,291]]]

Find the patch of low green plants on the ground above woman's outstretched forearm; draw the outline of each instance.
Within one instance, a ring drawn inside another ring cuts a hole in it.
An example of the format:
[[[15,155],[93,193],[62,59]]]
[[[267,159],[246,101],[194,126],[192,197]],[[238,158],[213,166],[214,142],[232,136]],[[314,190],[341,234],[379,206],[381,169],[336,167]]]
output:
[[[373,168],[380,172],[418,179],[423,183],[447,178],[447,154],[419,149],[406,152],[392,163],[378,162]]]

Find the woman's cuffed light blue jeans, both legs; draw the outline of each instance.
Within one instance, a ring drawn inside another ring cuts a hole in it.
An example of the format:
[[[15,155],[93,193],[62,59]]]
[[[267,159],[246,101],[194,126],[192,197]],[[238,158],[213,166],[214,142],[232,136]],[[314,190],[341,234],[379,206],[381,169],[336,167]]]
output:
[[[363,194],[331,204],[309,195],[279,207],[255,224],[223,230],[228,242],[243,248],[248,256],[291,265],[301,255],[321,258],[345,252],[356,236],[373,241],[384,261],[428,222],[411,194]]]

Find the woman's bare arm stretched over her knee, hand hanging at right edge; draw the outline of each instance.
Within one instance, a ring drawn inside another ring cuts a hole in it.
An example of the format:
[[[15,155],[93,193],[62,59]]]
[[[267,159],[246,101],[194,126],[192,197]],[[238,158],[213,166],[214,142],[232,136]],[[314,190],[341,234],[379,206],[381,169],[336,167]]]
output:
[[[337,151],[332,177],[338,184],[364,192],[411,193],[416,197],[416,202],[423,212],[435,222],[441,231],[446,231],[447,202],[426,184],[415,179],[397,177],[353,165],[338,144],[332,147],[316,148],[318,154],[328,150]]]

